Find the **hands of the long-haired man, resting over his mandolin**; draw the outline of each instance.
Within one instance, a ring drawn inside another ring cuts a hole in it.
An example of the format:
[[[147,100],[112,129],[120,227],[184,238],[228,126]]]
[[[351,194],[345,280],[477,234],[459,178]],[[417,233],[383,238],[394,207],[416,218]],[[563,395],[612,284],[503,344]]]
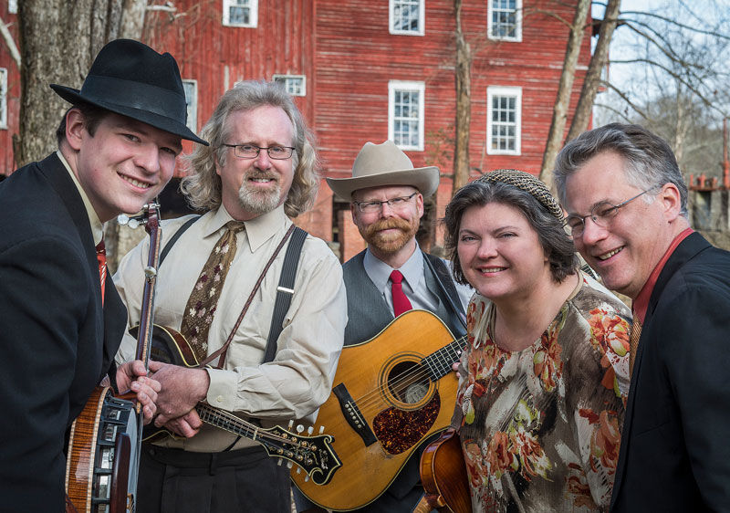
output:
[[[203,369],[187,369],[160,361],[150,361],[150,372],[151,377],[162,385],[156,402],[158,415],[154,419],[154,424],[157,427],[190,414],[195,405],[203,401],[208,393],[210,378],[208,372]],[[190,422],[184,422],[195,429]],[[176,427],[183,428],[183,424],[178,423]]]

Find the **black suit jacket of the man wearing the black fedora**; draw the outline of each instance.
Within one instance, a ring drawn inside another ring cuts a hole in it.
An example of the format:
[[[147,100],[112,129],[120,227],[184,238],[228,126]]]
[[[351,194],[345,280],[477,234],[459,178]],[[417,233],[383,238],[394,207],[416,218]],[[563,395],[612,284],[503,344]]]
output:
[[[126,322],[78,189],[54,153],[0,183],[0,511],[63,510],[65,433]]]

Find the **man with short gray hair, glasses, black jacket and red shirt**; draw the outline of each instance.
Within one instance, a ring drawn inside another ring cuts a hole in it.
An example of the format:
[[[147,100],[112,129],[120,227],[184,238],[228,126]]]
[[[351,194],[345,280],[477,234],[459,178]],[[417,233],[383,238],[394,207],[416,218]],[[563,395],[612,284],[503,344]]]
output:
[[[580,254],[632,299],[611,511],[728,510],[730,253],[690,227],[674,154],[640,126],[568,142],[555,183]]]

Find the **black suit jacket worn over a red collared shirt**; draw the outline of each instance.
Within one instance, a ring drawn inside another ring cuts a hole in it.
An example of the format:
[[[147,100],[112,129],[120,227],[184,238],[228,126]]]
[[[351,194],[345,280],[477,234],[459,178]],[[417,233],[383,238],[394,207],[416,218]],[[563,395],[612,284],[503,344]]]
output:
[[[611,510],[730,510],[730,253],[692,234],[652,292]]]

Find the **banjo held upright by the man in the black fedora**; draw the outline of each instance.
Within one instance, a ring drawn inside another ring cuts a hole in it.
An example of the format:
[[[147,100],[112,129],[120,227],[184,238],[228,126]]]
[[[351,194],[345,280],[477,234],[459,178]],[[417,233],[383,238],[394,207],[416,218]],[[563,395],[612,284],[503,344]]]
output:
[[[135,359],[143,361],[145,368],[150,360],[154,286],[160,259],[159,211],[159,204],[145,204],[141,215],[127,218],[131,227],[143,223],[150,235],[135,354]],[[123,222],[120,219],[120,223]],[[115,394],[109,386],[99,385],[71,424],[66,462],[67,512],[125,513],[136,510],[142,412],[141,405],[131,401],[134,395],[132,392]]]

